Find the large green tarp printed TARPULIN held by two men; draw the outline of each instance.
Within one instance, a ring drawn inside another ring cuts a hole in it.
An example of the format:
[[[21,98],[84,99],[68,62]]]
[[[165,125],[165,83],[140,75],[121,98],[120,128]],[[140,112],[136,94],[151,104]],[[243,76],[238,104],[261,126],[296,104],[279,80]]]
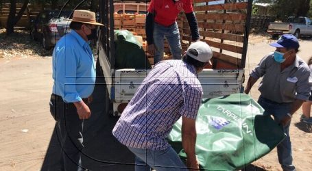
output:
[[[182,119],[169,134],[169,143],[182,159]],[[196,119],[196,155],[200,168],[239,170],[269,153],[285,138],[280,127],[247,94],[203,99]]]

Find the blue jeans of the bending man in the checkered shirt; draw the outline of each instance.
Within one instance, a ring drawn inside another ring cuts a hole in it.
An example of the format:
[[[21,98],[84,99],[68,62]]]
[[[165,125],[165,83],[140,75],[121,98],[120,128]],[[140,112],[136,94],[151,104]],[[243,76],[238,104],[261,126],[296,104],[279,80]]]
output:
[[[157,171],[174,170],[187,171],[187,167],[171,146],[165,150],[149,150],[142,148],[131,148],[129,150],[136,155],[135,170],[149,171],[151,168]]]

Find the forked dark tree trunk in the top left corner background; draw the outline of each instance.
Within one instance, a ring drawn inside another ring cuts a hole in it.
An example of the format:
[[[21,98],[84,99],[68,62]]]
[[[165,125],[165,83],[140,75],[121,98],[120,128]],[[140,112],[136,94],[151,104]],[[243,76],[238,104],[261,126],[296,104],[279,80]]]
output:
[[[17,16],[15,16],[16,0],[10,0],[10,13],[9,13],[8,21],[6,22],[6,28],[5,28],[7,35],[14,33],[14,26],[23,16],[23,13],[25,12],[25,9],[27,8],[28,3],[29,3],[29,0],[25,0],[21,10],[17,14]]]

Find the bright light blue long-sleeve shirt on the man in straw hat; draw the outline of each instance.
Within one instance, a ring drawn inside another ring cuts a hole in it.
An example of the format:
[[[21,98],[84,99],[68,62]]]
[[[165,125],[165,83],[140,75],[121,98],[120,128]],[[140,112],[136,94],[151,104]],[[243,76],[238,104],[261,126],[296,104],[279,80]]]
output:
[[[67,103],[90,96],[95,84],[95,61],[91,48],[77,32],[63,36],[53,51],[53,93]]]

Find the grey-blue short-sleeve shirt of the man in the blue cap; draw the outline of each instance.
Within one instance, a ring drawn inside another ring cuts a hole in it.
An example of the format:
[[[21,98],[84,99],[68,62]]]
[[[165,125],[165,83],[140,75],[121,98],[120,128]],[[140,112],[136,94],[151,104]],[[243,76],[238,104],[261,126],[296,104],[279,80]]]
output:
[[[250,77],[263,77],[259,84],[261,96],[276,103],[291,103],[296,99],[307,101],[310,96],[310,68],[298,56],[291,66],[281,71],[274,53],[269,53],[252,70]]]

